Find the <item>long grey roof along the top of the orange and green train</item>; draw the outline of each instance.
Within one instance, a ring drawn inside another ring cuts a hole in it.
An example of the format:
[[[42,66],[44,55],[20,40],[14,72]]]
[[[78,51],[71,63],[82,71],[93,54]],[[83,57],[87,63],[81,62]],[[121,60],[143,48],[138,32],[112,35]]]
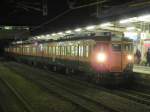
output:
[[[49,39],[49,40],[25,40],[25,41],[17,41],[13,42],[13,45],[19,44],[33,44],[33,43],[50,43],[50,42],[64,42],[64,41],[80,41],[80,40],[95,40],[95,41],[132,41],[130,39],[124,38],[123,33],[121,32],[90,32],[90,33],[81,33],[76,35],[65,35],[63,37],[59,37],[57,40]]]

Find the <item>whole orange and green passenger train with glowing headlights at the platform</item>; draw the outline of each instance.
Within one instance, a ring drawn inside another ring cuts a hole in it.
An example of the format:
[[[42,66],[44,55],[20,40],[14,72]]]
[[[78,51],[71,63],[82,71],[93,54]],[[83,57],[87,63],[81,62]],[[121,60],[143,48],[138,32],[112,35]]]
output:
[[[84,72],[96,83],[119,84],[132,77],[133,41],[118,32],[16,43],[5,52],[16,60],[54,71]]]

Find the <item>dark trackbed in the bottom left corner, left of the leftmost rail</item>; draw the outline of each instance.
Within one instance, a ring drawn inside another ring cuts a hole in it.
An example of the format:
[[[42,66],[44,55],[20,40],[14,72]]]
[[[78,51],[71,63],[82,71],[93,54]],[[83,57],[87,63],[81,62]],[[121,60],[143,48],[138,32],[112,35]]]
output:
[[[0,103],[1,112],[9,112],[9,111],[34,112],[29,106],[29,104],[23,99],[23,97],[15,90],[15,88],[13,88],[6,80],[2,79],[1,77],[0,77],[0,88],[1,88],[1,91],[7,92],[7,93],[1,93],[0,98],[1,98],[1,101],[3,101]],[[5,102],[5,100],[11,100],[9,101],[9,105]]]

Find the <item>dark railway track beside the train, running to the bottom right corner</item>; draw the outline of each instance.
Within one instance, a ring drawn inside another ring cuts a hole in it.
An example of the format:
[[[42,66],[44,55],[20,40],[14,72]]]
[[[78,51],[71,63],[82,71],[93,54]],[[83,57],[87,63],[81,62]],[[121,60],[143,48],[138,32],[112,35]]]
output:
[[[139,111],[139,112],[141,112],[143,110],[145,112],[150,111],[149,107],[147,107],[143,104],[136,103],[136,102],[131,101],[129,99],[125,99],[125,98],[116,96],[114,94],[109,93],[108,91],[106,92],[106,89],[105,89],[105,91],[103,89],[100,89],[100,88],[99,88],[99,90],[94,89],[95,86],[93,86],[93,85],[91,86],[90,84],[87,84],[87,83],[85,84],[81,81],[77,81],[77,80],[74,80],[71,78],[69,78],[69,80],[66,81],[66,77],[63,78],[63,76],[60,76],[58,74],[55,74],[58,76],[49,75],[48,73],[47,74],[44,73],[44,75],[41,75],[40,71],[38,71],[37,69],[33,70],[33,68],[31,69],[31,68],[26,67],[26,66],[21,67],[19,65],[17,67],[19,67],[21,70],[21,72],[19,74],[23,73],[22,75],[24,77],[26,77],[26,78],[28,77],[28,79],[30,79],[34,82],[36,81],[36,83],[38,83],[40,85],[42,84],[43,87],[46,87],[47,89],[50,89],[54,86],[55,86],[55,89],[61,88],[62,90],[60,90],[60,92],[65,90],[66,93],[74,94],[74,96],[76,96],[76,97],[78,96],[78,97],[80,97],[80,99],[81,98],[86,99],[85,101],[90,101],[90,102],[93,102],[97,105],[101,105],[103,107],[103,109],[106,109],[104,111],[115,111],[115,112],[125,112],[125,111],[128,111],[128,112],[130,112],[130,111],[131,112],[133,112],[133,111],[138,112]],[[11,69],[16,71],[16,69],[13,67]],[[31,73],[34,73],[36,75],[32,75],[32,76],[31,76],[31,74],[28,75],[26,73],[26,71],[28,71],[28,72],[30,71]],[[41,71],[41,72],[44,72],[44,71]],[[86,86],[86,89],[85,89],[85,86]],[[55,89],[53,89],[53,90],[55,90]],[[85,90],[85,91],[83,91],[83,90]],[[84,92],[84,94],[81,92]],[[95,96],[92,96],[92,95],[94,95],[93,93],[95,93]],[[118,102],[114,102],[114,100],[118,101]],[[80,101],[78,101],[78,102],[80,102]],[[93,108],[92,108],[92,110],[93,110]]]

